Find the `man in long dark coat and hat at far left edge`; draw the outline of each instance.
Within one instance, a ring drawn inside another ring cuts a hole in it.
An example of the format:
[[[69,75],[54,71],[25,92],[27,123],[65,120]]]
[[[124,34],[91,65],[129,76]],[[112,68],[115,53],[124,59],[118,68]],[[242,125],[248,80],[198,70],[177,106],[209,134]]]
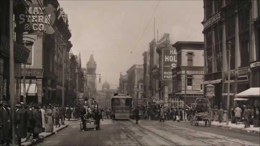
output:
[[[5,106],[5,102],[0,102],[0,140],[1,144],[9,145],[10,144],[10,130],[9,130],[9,124],[10,124],[10,113]]]

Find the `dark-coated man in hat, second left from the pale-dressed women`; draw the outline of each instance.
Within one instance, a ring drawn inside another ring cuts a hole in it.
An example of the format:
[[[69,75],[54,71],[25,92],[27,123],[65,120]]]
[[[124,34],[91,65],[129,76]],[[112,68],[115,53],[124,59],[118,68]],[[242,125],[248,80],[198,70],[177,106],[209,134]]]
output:
[[[30,136],[32,135],[33,132],[33,124],[34,124],[34,120],[33,120],[33,113],[31,108],[29,108],[29,105],[24,103],[23,104],[23,112],[25,115],[25,135],[26,135],[26,141],[30,141]]]

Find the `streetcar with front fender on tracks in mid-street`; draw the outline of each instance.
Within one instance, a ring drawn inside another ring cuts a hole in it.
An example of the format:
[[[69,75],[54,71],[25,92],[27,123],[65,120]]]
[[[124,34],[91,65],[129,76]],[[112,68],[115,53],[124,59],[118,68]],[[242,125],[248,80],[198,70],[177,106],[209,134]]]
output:
[[[128,120],[131,114],[132,97],[129,93],[115,93],[111,99],[111,112],[115,120]]]

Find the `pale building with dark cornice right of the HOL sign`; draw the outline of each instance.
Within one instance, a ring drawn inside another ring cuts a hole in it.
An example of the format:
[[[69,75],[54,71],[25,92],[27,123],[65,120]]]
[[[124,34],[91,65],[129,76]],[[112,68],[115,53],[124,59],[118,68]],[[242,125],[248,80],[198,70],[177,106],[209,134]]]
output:
[[[177,50],[177,67],[172,69],[173,99],[183,101],[186,86],[185,103],[191,106],[196,98],[204,97],[204,42],[176,42],[172,46]]]

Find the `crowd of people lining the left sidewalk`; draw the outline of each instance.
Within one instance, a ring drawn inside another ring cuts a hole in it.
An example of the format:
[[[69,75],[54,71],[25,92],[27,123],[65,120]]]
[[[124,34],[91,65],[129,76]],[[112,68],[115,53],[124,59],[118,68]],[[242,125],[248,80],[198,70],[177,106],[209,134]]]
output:
[[[26,141],[37,139],[42,132],[53,132],[54,127],[60,127],[61,119],[64,116],[68,120],[80,117],[79,106],[65,107],[56,105],[42,105],[30,103],[19,103],[15,105],[15,118],[11,117],[10,105],[7,102],[0,103],[0,140],[1,145],[10,145],[12,140],[12,120],[16,126],[16,141],[21,145],[21,139]],[[32,137],[31,137],[32,136]]]

